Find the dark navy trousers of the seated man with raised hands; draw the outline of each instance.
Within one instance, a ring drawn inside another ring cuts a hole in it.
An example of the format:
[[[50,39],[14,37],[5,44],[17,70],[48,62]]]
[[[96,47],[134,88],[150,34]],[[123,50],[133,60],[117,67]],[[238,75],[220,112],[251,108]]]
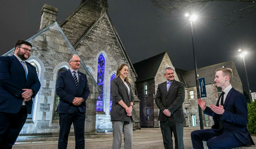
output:
[[[232,132],[214,131],[212,129],[193,131],[191,140],[193,149],[204,149],[203,141],[207,141],[209,149],[233,149],[243,144]]]

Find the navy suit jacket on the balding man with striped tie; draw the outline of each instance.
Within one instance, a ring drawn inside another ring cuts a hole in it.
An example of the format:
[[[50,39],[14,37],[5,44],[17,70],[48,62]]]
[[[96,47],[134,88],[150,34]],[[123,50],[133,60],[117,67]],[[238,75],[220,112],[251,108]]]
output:
[[[87,77],[85,74],[78,72],[78,88],[73,78],[70,69],[59,72],[56,80],[56,94],[60,97],[58,105],[58,113],[73,113],[75,108],[78,107],[80,112],[86,112],[86,100],[90,94]],[[81,97],[84,102],[80,106],[74,106],[73,100],[75,97]]]

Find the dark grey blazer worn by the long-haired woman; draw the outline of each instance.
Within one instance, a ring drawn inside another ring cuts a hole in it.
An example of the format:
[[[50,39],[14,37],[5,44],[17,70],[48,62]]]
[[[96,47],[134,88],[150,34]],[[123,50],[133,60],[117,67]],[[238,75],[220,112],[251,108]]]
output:
[[[131,84],[126,81],[130,88],[130,94],[128,94],[128,89],[123,83],[120,77],[114,78],[111,82],[111,96],[112,96],[112,109],[111,109],[111,121],[113,120],[124,120],[131,121],[131,117],[127,116],[125,109],[118,104],[120,100],[129,107],[131,102],[134,103],[134,97],[132,95]]]

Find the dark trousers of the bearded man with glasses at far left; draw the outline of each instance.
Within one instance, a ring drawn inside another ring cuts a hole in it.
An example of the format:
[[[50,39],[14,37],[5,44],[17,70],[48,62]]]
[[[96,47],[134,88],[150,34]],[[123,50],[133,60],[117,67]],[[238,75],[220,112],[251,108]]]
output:
[[[0,149],[12,149],[27,115],[26,106],[15,114],[0,112]]]

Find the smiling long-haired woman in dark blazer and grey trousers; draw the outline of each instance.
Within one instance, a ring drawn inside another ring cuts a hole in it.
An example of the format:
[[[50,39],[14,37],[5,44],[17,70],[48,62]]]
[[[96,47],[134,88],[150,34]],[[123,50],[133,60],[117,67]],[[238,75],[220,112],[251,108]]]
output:
[[[132,117],[134,105],[127,64],[120,64],[116,71],[116,78],[111,82],[112,109],[111,122],[113,127],[112,149],[120,149],[122,132],[124,133],[124,149],[132,148]]]

